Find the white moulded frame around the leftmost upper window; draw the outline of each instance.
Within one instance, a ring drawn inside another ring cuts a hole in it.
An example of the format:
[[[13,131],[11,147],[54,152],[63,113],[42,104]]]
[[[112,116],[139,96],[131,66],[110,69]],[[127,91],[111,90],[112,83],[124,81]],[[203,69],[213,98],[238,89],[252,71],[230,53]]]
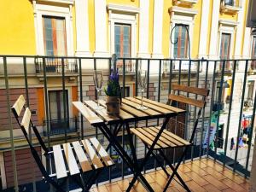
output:
[[[65,19],[66,29],[66,44],[67,44],[67,56],[73,55],[73,18],[72,18],[72,5],[69,7],[59,7],[53,5],[38,4],[33,1],[34,8],[34,23],[35,23],[35,35],[37,44],[37,54],[45,55],[44,52],[44,27],[43,17],[55,16]]]

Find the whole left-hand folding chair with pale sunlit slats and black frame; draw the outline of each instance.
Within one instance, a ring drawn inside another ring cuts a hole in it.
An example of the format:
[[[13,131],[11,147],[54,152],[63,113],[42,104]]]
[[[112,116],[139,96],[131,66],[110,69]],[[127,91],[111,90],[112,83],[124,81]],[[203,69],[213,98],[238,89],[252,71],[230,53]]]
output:
[[[89,191],[103,168],[113,166],[113,160],[109,157],[108,153],[95,137],[73,143],[58,144],[52,148],[47,148],[36,125],[32,123],[32,113],[29,108],[25,108],[25,102],[24,96],[20,95],[12,107],[12,112],[26,137],[32,156],[46,183],[50,183],[59,192],[66,192],[67,190],[61,187],[63,182],[60,183],[60,181],[64,180],[65,182],[67,177],[71,177],[79,185],[79,188],[70,191]],[[23,118],[20,115],[21,111],[24,111]],[[47,169],[44,167],[41,157],[28,137],[27,132],[30,126],[38,138],[38,143],[44,149],[44,156],[48,162]],[[84,183],[83,178],[84,172],[91,173],[86,183]]]

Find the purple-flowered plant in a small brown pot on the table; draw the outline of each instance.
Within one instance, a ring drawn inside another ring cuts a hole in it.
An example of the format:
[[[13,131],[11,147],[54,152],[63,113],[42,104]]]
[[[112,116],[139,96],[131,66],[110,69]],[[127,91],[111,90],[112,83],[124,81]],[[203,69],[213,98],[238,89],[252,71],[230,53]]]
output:
[[[119,84],[119,72],[111,70],[108,87],[105,89],[107,95],[106,105],[108,114],[118,114],[120,111],[121,88]]]

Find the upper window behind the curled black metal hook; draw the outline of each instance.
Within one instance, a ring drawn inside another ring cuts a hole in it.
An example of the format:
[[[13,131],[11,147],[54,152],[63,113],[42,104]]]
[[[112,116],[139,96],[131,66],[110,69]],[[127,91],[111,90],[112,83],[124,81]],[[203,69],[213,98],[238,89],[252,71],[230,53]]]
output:
[[[189,26],[186,26],[189,27]],[[176,26],[174,32],[173,56],[174,58],[187,58],[188,55],[188,34],[184,26]]]

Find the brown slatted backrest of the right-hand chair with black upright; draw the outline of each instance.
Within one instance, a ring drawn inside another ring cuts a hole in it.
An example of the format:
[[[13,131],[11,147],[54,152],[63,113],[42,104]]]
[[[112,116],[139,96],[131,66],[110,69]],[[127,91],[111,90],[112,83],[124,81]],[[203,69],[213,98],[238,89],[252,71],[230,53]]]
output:
[[[195,124],[193,127],[192,135],[190,137],[189,142],[192,143],[195,137],[196,127],[198,125],[198,121],[201,117],[201,111],[205,108],[207,102],[207,96],[209,95],[209,90],[204,88],[190,87],[182,84],[172,84],[173,94],[170,94],[168,97],[168,102],[172,104],[173,101],[181,102],[186,105],[195,106],[195,108],[199,108],[197,113],[197,118],[195,119]],[[179,95],[180,92],[185,92],[187,94],[194,94],[195,96],[201,96],[201,98],[190,98],[188,96]],[[176,94],[177,93],[177,94]]]

